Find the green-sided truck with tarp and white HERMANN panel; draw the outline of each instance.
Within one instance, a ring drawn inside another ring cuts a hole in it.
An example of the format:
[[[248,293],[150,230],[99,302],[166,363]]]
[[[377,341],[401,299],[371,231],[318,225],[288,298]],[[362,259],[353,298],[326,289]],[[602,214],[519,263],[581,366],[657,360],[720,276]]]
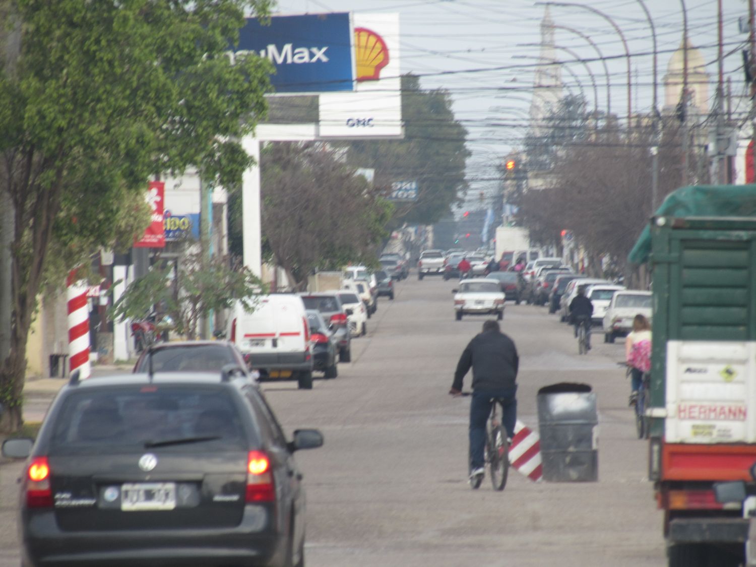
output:
[[[652,274],[649,479],[668,565],[740,565],[748,510],[714,485],[756,494],[756,187],[674,191],[629,260]]]

